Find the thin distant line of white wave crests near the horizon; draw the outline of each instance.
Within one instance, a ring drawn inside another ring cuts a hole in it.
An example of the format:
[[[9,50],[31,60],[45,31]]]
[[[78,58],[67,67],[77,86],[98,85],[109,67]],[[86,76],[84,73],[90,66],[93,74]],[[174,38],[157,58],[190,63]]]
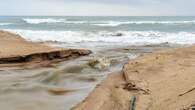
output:
[[[96,26],[119,26],[119,25],[125,25],[125,24],[195,24],[195,20],[189,20],[189,21],[75,21],[75,20],[67,20],[67,19],[57,19],[57,18],[24,18],[23,19],[26,23],[29,24],[40,24],[40,23],[70,23],[70,24],[84,24],[89,23],[91,25]]]

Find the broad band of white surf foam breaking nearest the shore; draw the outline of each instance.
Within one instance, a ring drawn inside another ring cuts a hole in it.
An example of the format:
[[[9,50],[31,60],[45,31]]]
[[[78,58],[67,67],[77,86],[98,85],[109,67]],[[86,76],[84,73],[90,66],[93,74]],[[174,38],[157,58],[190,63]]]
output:
[[[7,30],[17,33],[27,40],[57,41],[65,43],[77,42],[108,42],[128,43],[129,45],[146,45],[159,43],[194,44],[195,33],[155,32],[155,31],[118,31],[118,32],[83,32],[83,31],[32,31],[32,30]]]

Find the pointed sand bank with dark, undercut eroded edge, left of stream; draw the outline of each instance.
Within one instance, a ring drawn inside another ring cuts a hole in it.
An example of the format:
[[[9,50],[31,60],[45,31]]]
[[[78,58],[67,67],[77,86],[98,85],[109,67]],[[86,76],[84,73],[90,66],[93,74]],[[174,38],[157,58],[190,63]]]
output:
[[[0,64],[67,60],[90,54],[86,49],[62,49],[25,41],[19,35],[0,31]]]

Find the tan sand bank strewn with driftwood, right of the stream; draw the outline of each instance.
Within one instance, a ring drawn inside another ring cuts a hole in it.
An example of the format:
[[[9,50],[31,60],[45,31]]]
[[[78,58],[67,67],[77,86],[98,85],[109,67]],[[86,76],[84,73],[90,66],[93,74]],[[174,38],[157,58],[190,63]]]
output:
[[[129,61],[73,110],[191,110],[194,105],[195,46]]]

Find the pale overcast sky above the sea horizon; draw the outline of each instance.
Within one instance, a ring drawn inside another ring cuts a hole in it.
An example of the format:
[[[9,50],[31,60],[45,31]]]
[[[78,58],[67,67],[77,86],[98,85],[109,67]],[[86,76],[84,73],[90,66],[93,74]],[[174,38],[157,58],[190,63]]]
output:
[[[195,0],[0,0],[0,15],[195,16]]]

